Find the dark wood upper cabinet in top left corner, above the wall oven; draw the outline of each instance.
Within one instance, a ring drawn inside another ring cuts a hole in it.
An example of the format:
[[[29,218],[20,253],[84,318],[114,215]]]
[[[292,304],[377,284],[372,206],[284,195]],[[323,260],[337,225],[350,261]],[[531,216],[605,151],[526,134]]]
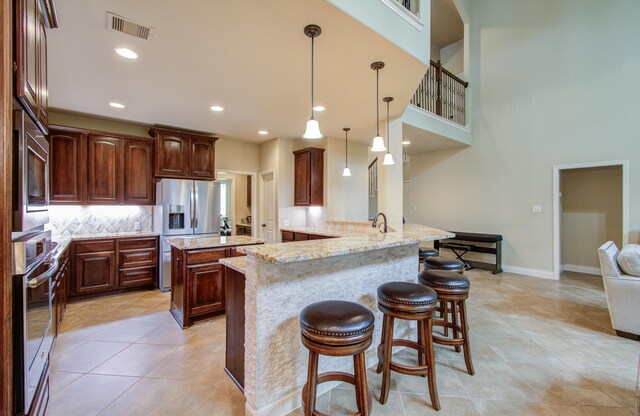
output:
[[[43,133],[48,133],[47,28],[58,26],[53,1],[17,0],[16,96]]]

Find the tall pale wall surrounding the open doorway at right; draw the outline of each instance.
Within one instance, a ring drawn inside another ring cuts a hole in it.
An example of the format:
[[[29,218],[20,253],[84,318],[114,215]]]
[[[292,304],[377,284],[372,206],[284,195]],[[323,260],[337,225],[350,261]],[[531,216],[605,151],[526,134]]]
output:
[[[418,222],[503,234],[505,265],[550,277],[553,166],[629,159],[637,242],[638,16],[634,0],[473,2],[473,145],[412,157]]]

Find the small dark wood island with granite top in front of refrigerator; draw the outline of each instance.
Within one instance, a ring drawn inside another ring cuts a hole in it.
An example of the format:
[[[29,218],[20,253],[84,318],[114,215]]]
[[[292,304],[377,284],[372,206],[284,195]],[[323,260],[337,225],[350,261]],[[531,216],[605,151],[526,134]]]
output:
[[[225,313],[225,273],[220,260],[244,256],[240,247],[262,244],[249,236],[173,237],[170,312],[182,328]]]

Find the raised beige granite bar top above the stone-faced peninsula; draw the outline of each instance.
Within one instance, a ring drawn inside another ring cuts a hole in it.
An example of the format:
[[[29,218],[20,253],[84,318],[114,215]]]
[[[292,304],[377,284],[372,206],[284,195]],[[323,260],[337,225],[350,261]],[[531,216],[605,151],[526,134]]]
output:
[[[282,230],[336,238],[238,247],[238,251],[269,263],[291,263],[417,244],[424,241],[442,240],[455,236],[448,231],[420,224],[390,225],[389,232],[384,234],[372,228],[370,223],[337,221],[328,221],[321,227],[287,227]]]

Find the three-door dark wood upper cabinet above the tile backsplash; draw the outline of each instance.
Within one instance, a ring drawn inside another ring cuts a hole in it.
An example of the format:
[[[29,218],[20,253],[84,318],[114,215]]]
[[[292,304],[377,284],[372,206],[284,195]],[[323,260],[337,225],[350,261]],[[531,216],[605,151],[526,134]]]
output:
[[[52,204],[155,204],[152,139],[53,126],[49,142]]]

